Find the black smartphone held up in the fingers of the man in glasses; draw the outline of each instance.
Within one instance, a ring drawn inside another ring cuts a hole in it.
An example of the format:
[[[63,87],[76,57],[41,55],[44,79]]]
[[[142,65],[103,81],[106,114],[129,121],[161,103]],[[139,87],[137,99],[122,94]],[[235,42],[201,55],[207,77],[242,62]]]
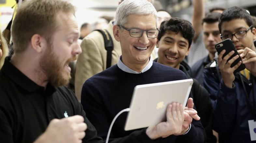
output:
[[[235,49],[235,45],[233,44],[233,42],[230,40],[230,39],[226,39],[226,40],[223,40],[219,43],[217,43],[215,45],[215,48],[217,50],[217,52],[220,54],[220,52],[222,50],[226,50],[226,52],[223,54],[222,56],[222,59],[231,51],[235,51],[235,53],[228,59],[228,61],[230,59],[232,59],[234,56],[236,55],[239,55]],[[232,64],[230,67],[233,67],[235,66],[239,61],[242,61],[241,57],[239,56]],[[241,71],[241,70],[244,70],[245,69],[245,65],[244,64],[241,64],[235,71],[234,71],[234,74]]]

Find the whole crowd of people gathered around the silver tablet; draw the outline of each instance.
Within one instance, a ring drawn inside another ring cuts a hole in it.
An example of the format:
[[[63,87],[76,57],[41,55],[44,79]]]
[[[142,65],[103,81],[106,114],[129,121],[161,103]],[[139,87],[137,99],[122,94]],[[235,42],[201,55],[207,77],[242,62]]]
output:
[[[165,121],[130,131],[123,113],[109,142],[256,142],[253,16],[237,6],[205,14],[204,0],[193,0],[189,22],[152,3],[121,0],[115,19],[89,32],[69,2],[23,2],[11,25],[14,54],[0,31],[0,141],[103,143],[136,85],[192,78],[185,109],[171,103]],[[238,55],[216,51],[226,39]]]

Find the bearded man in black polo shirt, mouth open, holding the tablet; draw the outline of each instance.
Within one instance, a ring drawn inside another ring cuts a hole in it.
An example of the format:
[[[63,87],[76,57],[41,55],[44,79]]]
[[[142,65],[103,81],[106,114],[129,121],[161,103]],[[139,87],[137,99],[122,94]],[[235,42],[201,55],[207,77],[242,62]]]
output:
[[[60,0],[26,1],[19,7],[11,29],[14,55],[0,71],[0,142],[104,142],[74,93],[62,86],[70,79],[68,64],[81,53],[74,14],[74,6]],[[166,116],[147,133],[111,143],[150,143],[181,132],[182,106],[168,106]]]

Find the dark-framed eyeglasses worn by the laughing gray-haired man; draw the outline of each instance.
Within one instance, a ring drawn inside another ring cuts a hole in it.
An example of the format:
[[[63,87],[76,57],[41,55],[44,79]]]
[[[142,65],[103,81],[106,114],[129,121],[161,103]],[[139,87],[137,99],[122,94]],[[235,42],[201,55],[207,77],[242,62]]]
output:
[[[121,28],[127,30],[130,32],[130,36],[131,37],[134,37],[134,38],[139,38],[143,35],[144,31],[146,31],[147,33],[147,36],[149,38],[156,38],[160,32],[160,30],[158,29],[152,29],[152,30],[142,30],[142,29],[135,29],[135,28],[132,28],[132,29],[127,29],[121,25],[119,25]]]

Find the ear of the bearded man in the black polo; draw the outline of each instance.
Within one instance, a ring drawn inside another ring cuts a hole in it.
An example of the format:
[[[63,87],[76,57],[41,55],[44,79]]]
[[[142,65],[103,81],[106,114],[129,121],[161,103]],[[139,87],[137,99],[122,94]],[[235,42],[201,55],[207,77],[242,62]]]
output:
[[[31,37],[31,45],[32,45],[32,48],[37,52],[37,53],[40,53],[44,46],[46,45],[46,40],[40,36],[39,34],[34,34],[32,37]]]

